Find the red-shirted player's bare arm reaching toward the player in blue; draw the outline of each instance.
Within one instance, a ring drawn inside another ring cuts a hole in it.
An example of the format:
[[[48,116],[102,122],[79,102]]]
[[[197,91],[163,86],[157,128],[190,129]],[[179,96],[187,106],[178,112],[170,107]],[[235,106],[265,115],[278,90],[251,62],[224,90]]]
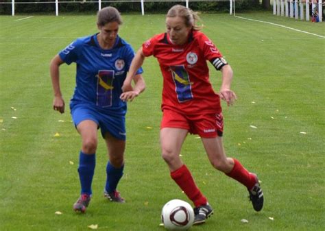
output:
[[[128,75],[126,75],[126,78],[124,80],[122,86],[122,90],[124,93],[133,90],[132,79],[134,79],[134,75],[136,74],[136,71],[138,71],[138,69],[142,66],[144,60],[145,60],[145,56],[143,55],[143,51],[141,47],[139,51],[136,52],[136,55],[134,56],[130,69],[128,71]]]

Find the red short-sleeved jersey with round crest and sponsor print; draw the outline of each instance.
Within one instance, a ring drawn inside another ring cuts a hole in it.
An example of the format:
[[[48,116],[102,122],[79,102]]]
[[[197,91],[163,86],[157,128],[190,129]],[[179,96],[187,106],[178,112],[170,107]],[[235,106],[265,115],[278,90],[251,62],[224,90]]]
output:
[[[173,45],[167,33],[158,34],[143,44],[143,54],[153,55],[160,64],[162,110],[168,108],[184,114],[221,112],[220,98],[210,84],[206,61],[227,63],[220,60],[221,53],[202,32],[191,32],[181,46]]]

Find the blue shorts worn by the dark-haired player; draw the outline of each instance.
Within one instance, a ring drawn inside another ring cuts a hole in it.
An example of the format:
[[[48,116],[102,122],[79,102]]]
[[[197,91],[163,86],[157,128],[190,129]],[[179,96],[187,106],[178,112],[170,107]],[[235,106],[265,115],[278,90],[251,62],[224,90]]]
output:
[[[101,130],[101,136],[109,132],[115,138],[125,141],[125,116],[108,114],[98,111],[95,106],[79,104],[71,108],[71,116],[75,127],[85,120],[91,120],[97,123]]]

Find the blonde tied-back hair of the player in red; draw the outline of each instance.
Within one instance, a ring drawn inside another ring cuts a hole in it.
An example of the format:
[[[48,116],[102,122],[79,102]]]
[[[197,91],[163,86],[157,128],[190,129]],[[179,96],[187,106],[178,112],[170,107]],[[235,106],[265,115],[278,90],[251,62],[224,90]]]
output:
[[[197,21],[200,21],[200,17],[197,15],[197,12],[193,12],[193,10],[184,7],[184,5],[174,5],[167,12],[166,17],[181,17],[184,19],[185,25],[187,27],[192,27],[193,30],[202,29],[201,26],[196,25]]]

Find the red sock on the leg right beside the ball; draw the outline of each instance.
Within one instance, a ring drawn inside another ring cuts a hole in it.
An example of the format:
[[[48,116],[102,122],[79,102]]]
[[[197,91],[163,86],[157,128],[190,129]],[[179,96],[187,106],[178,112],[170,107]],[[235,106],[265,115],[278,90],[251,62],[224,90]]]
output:
[[[171,172],[171,178],[175,180],[180,189],[184,191],[187,197],[191,199],[195,207],[205,205],[208,203],[206,197],[202,195],[200,189],[197,188],[191,172],[187,169],[186,165],[182,165],[176,171]]]

